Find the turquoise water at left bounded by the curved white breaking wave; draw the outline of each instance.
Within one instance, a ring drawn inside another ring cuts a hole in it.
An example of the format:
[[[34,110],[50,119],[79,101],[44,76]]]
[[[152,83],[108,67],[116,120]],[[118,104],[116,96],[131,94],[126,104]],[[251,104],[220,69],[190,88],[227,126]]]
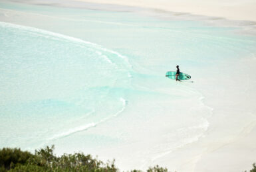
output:
[[[21,132],[34,138],[32,142],[43,142],[51,135],[59,138],[86,130],[125,108],[124,91],[131,88],[132,77],[126,57],[76,38],[0,24],[1,65],[5,66],[1,68],[5,122],[1,127],[7,130],[1,136],[17,132],[22,143]],[[55,134],[66,122],[72,123],[69,127],[74,131]]]

